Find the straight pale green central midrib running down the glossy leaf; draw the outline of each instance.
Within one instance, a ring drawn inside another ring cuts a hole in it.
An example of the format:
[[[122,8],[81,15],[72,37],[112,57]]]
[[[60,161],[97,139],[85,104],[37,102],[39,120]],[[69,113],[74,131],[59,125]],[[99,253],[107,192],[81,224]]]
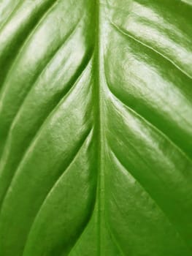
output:
[[[104,132],[103,132],[103,91],[102,84],[103,78],[101,73],[101,67],[103,65],[103,54],[101,48],[101,2],[96,0],[96,15],[95,15],[95,50],[93,58],[93,103],[94,103],[94,127],[96,136],[96,147],[97,147],[97,170],[98,170],[98,181],[97,181],[97,192],[96,192],[96,206],[98,211],[98,255],[104,255],[102,252],[103,238],[103,227],[104,227]]]

